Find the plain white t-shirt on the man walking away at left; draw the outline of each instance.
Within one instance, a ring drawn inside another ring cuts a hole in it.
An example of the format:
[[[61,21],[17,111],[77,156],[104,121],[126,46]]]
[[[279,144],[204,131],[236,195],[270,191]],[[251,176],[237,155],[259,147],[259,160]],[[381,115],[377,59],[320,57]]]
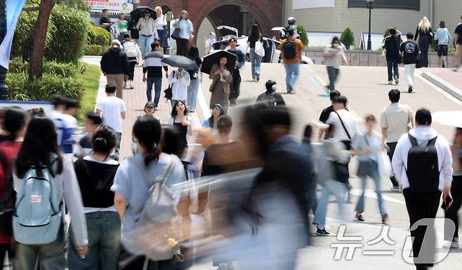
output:
[[[103,125],[110,126],[115,132],[122,132],[122,116],[125,112],[125,103],[119,97],[106,97],[96,104],[96,109],[101,110]]]

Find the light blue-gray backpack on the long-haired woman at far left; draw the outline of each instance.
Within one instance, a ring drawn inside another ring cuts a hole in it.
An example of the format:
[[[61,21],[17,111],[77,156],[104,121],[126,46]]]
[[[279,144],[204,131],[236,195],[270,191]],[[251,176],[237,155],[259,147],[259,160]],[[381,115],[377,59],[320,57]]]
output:
[[[18,189],[13,213],[15,240],[26,245],[44,245],[58,238],[62,226],[62,197],[48,168],[30,168]]]

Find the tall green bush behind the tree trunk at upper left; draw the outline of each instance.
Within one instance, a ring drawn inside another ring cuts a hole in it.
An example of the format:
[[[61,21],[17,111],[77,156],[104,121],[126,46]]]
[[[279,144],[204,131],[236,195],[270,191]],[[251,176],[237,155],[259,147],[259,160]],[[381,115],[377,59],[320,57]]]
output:
[[[11,46],[11,58],[22,56],[25,42],[38,15],[37,11],[21,12]],[[48,21],[44,58],[57,62],[78,62],[84,55],[87,31],[86,13],[55,5]]]

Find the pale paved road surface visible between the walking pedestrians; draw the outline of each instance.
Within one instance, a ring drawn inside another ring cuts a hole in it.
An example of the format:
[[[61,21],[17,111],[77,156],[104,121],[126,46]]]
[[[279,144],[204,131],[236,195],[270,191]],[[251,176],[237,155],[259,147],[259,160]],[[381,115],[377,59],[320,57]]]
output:
[[[284,92],[284,68],[280,65],[263,64],[262,76],[259,83],[251,82],[250,65],[244,67],[242,74],[242,93],[238,100],[237,107],[230,108],[230,116],[239,121],[239,110],[244,104],[251,104],[256,100],[256,96],[265,90],[264,83],[268,79],[277,81],[279,92]],[[400,69],[400,74],[404,78],[404,69]],[[349,99],[348,107],[355,112],[358,117],[363,117],[367,113],[372,113],[377,117],[380,115],[383,107],[388,105],[388,91],[392,88],[402,90],[402,102],[409,104],[414,111],[420,107],[427,107],[431,111],[448,111],[461,110],[462,103],[453,97],[447,95],[435,88],[431,83],[424,79],[416,77],[415,93],[407,93],[407,86],[404,80],[399,86],[388,86],[386,81],[386,69],[384,67],[342,67],[341,77],[338,81],[338,89]],[[295,95],[284,95],[286,103],[291,107],[295,118],[294,135],[301,135],[303,126],[317,119],[319,112],[329,105],[329,100],[324,92],[324,84],[327,81],[325,67],[303,65],[301,67],[301,77],[295,87]],[[202,89],[206,102],[209,101],[208,92],[210,80],[204,78]],[[241,106],[239,106],[241,105]],[[435,128],[447,137],[448,140],[453,138],[453,128],[435,125]],[[239,126],[235,126],[233,136],[237,137]],[[353,168],[354,170],[354,168]],[[354,189],[352,191],[352,204],[348,205],[350,220],[353,219],[355,202],[359,195],[359,180],[352,177],[350,180]],[[395,245],[378,243],[377,245],[367,245],[367,241],[374,240],[381,234],[383,225],[380,223],[381,218],[378,212],[377,203],[374,194],[374,185],[368,182],[368,191],[366,199],[366,212],[364,218],[366,222],[361,224],[352,222],[348,224],[346,235],[364,236],[362,249],[355,252],[353,259],[334,260],[336,250],[331,248],[331,243],[339,243],[335,236],[313,237],[315,246],[305,248],[299,252],[297,269],[414,269],[414,266],[407,264],[402,259],[402,249],[407,236],[409,236],[409,218],[404,204],[402,194],[389,191],[390,182],[383,180],[381,189],[385,198],[385,207],[390,215],[390,232],[389,236]],[[336,205],[329,204],[329,220],[327,221],[327,230],[336,235],[338,223],[335,221]],[[438,216],[444,216],[442,210]],[[441,228],[439,230],[442,231]],[[442,239],[440,238],[440,245]],[[393,250],[394,255],[373,256],[362,255],[364,250]],[[440,250],[442,251],[442,250]],[[451,254],[440,264],[435,264],[434,269],[458,269],[462,265],[462,250],[452,250]],[[443,253],[442,253],[443,254]],[[194,270],[214,269],[209,262],[194,266]]]

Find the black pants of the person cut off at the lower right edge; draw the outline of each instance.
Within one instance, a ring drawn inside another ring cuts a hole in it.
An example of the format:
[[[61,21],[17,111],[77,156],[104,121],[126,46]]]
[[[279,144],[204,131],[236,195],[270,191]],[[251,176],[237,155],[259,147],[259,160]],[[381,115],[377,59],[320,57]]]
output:
[[[446,222],[444,222],[444,240],[453,241],[454,238],[458,238],[458,215],[457,212],[461,209],[462,205],[462,176],[453,176],[451,185],[452,205],[444,212],[444,217],[452,220],[456,224],[456,231],[454,235],[449,234],[446,228]]]

